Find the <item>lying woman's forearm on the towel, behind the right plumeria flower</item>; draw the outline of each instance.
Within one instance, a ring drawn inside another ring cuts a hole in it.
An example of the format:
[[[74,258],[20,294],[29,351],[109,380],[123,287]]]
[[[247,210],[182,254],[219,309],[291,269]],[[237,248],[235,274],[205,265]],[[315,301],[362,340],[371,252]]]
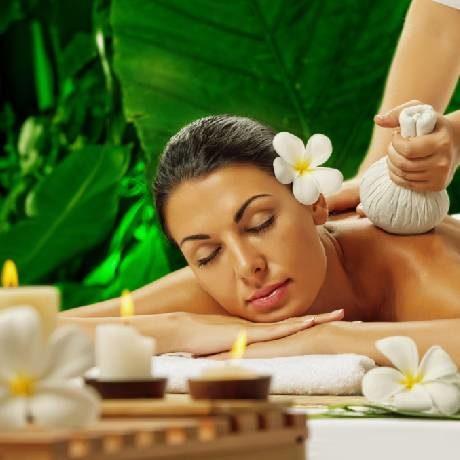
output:
[[[303,354],[357,353],[369,356],[379,365],[389,362],[374,344],[392,335],[406,335],[417,344],[420,356],[432,345],[440,345],[460,367],[460,319],[408,321],[401,323],[356,323],[334,321],[292,336],[250,345],[246,357]]]

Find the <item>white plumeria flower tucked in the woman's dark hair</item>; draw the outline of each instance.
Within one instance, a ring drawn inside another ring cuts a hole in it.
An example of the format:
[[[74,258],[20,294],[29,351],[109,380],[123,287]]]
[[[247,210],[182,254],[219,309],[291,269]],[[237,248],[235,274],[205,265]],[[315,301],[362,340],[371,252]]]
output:
[[[313,134],[305,146],[297,136],[281,132],[274,137],[273,147],[279,155],[273,162],[275,176],[282,184],[293,182],[292,191],[301,203],[313,204],[320,193],[329,195],[340,189],[342,173],[320,167],[332,153],[332,143],[324,134]]]

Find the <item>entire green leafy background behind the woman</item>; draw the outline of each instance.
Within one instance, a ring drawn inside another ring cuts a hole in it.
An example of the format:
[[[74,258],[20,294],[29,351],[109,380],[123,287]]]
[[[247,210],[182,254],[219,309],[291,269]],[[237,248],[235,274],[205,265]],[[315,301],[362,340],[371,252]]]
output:
[[[182,266],[144,165],[209,114],[327,133],[352,176],[408,3],[3,0],[0,261],[59,285],[64,307]],[[459,212],[459,174],[450,196]]]

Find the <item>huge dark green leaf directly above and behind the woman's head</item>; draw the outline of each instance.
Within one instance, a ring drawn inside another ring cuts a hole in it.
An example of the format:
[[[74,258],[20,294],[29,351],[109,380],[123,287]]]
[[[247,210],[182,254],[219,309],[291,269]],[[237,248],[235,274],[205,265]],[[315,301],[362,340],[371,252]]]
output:
[[[304,139],[329,135],[332,163],[364,154],[408,1],[114,0],[125,113],[154,158],[185,123],[247,115]]]

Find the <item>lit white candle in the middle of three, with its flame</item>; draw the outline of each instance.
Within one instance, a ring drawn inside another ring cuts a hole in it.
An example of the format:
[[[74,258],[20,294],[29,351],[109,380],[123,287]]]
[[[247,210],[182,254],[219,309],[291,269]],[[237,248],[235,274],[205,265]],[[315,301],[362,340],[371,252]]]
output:
[[[128,291],[123,291],[120,316],[129,318],[133,314],[132,298]],[[143,336],[130,324],[101,324],[96,327],[95,341],[99,379],[142,379],[152,376],[155,339]]]

